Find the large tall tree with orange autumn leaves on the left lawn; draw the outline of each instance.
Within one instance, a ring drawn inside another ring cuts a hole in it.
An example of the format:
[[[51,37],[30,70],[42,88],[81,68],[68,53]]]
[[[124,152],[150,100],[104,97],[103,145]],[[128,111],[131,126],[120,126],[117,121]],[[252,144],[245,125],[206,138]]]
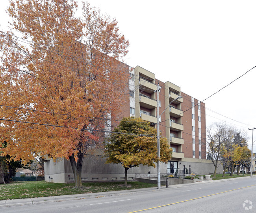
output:
[[[88,3],[76,18],[77,9],[73,0],[10,2],[10,31],[0,38],[0,140],[3,155],[24,163],[38,153],[70,160],[80,188],[83,156],[102,144],[106,118],[115,119],[127,93],[118,60],[129,42],[116,20]]]

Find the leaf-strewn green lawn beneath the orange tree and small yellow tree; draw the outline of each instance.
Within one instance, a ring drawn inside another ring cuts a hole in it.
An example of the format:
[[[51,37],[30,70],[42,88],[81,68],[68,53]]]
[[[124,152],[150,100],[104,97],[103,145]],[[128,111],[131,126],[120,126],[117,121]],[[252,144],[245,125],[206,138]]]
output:
[[[72,189],[74,187],[74,183],[61,184],[49,183],[45,181],[12,182],[10,184],[0,184],[0,200],[74,195],[157,186],[157,184],[146,184],[137,181],[127,182],[128,187],[122,186],[123,184],[124,182],[87,182],[83,183],[83,189]]]

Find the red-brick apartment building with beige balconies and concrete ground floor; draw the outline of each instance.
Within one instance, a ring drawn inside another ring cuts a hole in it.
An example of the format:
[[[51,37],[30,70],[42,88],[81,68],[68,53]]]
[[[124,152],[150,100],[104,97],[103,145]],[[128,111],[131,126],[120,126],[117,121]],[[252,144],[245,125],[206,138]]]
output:
[[[206,160],[206,116],[205,104],[183,93],[179,86],[172,82],[162,82],[155,74],[137,66],[127,67],[130,78],[129,98],[120,112],[120,119],[127,116],[141,117],[148,120],[153,127],[157,123],[157,99],[159,101],[160,132],[166,137],[173,149],[173,157],[167,164],[161,163],[163,174],[175,173],[184,167],[191,173],[213,173],[211,160]],[[157,84],[161,87],[159,98],[156,96]],[[180,99],[176,99],[182,96]],[[128,101],[129,100],[129,101]],[[171,103],[171,104],[170,104]],[[170,105],[169,105],[170,104]],[[167,108],[167,109],[166,109]],[[166,109],[166,110],[165,110]],[[165,110],[165,111],[164,111]],[[99,154],[100,155],[100,154]],[[222,173],[221,166],[218,173]],[[154,167],[139,166],[128,170],[128,180],[136,173],[157,174]],[[47,160],[45,163],[45,180],[53,178],[53,182],[74,181],[70,163],[60,160],[56,163]],[[102,156],[86,156],[82,169],[83,181],[123,180],[124,168],[121,164],[105,164]]]

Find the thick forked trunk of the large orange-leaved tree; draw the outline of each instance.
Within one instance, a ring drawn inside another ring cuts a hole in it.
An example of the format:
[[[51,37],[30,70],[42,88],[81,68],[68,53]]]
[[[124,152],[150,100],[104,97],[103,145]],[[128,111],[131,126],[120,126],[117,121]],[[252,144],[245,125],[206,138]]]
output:
[[[75,189],[83,188],[82,185],[82,164],[83,164],[83,154],[81,151],[78,153],[77,163],[75,161],[74,155],[69,156],[70,164],[75,178]]]

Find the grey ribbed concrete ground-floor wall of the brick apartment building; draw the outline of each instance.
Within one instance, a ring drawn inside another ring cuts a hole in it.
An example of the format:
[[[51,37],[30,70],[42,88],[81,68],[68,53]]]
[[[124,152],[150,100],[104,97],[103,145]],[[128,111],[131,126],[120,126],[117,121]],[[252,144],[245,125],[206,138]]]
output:
[[[106,158],[102,156],[86,155],[83,160],[82,181],[122,181],[124,180],[124,167],[121,164],[106,164]],[[155,164],[156,165],[156,164]],[[214,167],[210,160],[182,158],[178,161],[178,167],[183,169],[183,165],[198,174],[213,173]],[[167,164],[160,164],[161,175],[167,175]],[[222,166],[219,166],[218,173],[222,173]],[[142,166],[128,169],[128,180],[134,178],[157,175],[156,167]],[[74,175],[70,162],[65,159],[57,159],[56,162],[48,160],[45,162],[45,180],[51,182],[74,182]]]

